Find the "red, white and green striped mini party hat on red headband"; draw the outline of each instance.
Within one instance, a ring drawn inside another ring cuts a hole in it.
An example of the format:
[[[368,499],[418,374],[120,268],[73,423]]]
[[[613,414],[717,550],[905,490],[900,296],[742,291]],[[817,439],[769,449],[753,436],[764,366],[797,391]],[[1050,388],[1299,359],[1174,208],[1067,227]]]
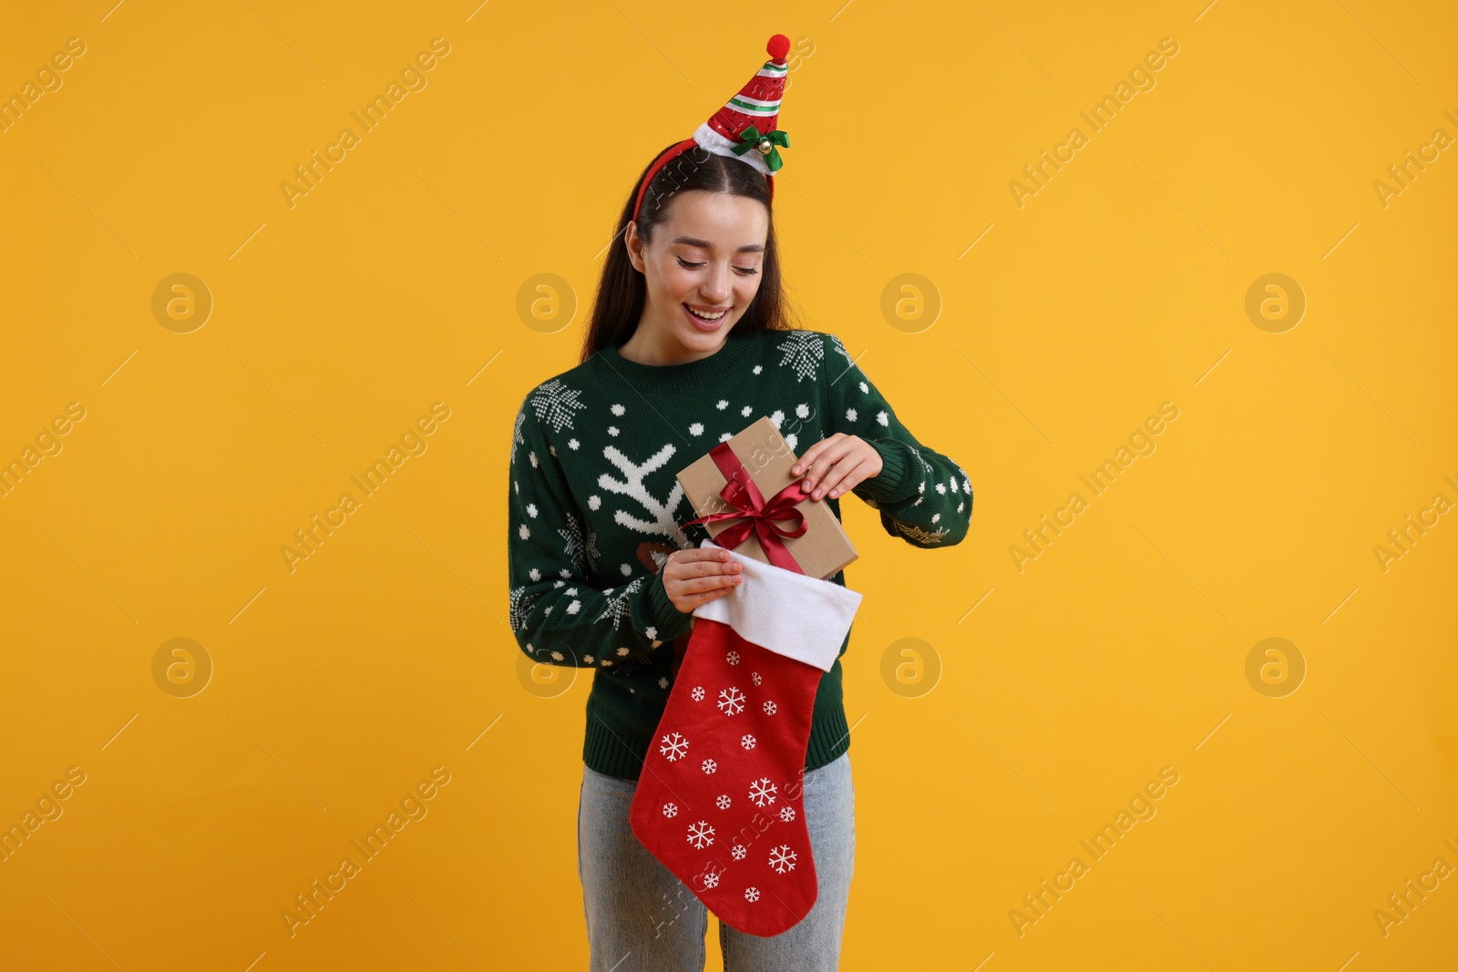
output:
[[[777,128],[780,121],[780,98],[784,95],[784,74],[789,64],[790,38],[776,34],[765,45],[770,60],[754,73],[739,93],[716,111],[709,121],[698,125],[693,138],[685,138],[660,154],[643,176],[637,201],[633,204],[633,219],[643,205],[643,194],[659,169],[690,149],[706,149],[714,154],[739,159],[763,172],[770,182],[770,198],[774,198],[774,173],[780,169],[780,149],[790,147],[789,134]]]

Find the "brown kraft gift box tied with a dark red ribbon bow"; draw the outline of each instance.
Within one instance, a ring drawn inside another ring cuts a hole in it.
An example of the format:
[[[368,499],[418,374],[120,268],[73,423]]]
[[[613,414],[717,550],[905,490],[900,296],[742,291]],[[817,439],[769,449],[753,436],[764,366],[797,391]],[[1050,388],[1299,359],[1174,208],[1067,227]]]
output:
[[[736,554],[825,580],[856,560],[825,498],[800,490],[798,456],[768,415],[678,474],[713,541]]]

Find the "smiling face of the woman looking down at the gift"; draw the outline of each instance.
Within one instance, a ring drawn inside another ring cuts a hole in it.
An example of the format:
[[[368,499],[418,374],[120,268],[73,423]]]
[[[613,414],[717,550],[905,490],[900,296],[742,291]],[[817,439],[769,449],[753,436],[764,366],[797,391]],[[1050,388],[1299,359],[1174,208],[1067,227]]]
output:
[[[698,189],[672,197],[652,243],[628,223],[628,258],[647,281],[640,328],[647,325],[669,345],[716,351],[760,290],[768,233],[764,204]]]

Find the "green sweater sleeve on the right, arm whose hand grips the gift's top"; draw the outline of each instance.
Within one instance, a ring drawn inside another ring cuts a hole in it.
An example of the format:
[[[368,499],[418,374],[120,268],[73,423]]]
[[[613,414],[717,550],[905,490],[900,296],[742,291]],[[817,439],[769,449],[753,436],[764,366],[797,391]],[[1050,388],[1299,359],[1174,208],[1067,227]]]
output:
[[[967,471],[921,444],[897,420],[891,404],[834,334],[825,335],[825,364],[827,436],[859,436],[881,453],[881,474],[863,479],[851,493],[879,510],[891,536],[923,548],[959,544],[972,519]]]

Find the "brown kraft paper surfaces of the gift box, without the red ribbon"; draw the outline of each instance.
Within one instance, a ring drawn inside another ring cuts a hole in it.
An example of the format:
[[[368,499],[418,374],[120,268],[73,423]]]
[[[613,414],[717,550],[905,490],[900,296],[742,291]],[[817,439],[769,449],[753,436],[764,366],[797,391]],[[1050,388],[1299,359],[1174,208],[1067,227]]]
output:
[[[729,478],[720,468],[720,462],[725,462],[730,468],[741,468],[752,479],[754,487],[758,488],[761,501],[765,504],[770,504],[784,487],[793,485],[802,478],[790,475],[790,468],[795,465],[798,456],[790,450],[790,443],[780,436],[780,430],[768,415],[761,415],[744,431],[729,437],[720,446],[728,446],[729,452],[720,450],[717,460],[714,453],[710,452],[678,474],[678,482],[684,487],[684,495],[694,504],[698,516],[738,512],[722,495]],[[738,495],[746,504],[752,506],[744,491],[738,493]],[[819,500],[806,497],[787,509],[799,510],[803,514],[806,529],[799,536],[784,536],[776,530],[776,536],[784,542],[784,551],[793,558],[800,573],[808,577],[825,580],[856,560],[856,548],[851,545],[846,530],[841,529],[840,520],[835,519],[835,513],[831,512],[825,497]],[[793,520],[779,519],[776,523],[784,530],[795,529]],[[717,542],[719,535],[726,529],[744,529],[744,525],[752,525],[752,520],[709,520],[704,523],[704,529]],[[749,535],[732,549],[744,557],[774,564],[774,558],[765,554],[752,528],[749,529]]]

